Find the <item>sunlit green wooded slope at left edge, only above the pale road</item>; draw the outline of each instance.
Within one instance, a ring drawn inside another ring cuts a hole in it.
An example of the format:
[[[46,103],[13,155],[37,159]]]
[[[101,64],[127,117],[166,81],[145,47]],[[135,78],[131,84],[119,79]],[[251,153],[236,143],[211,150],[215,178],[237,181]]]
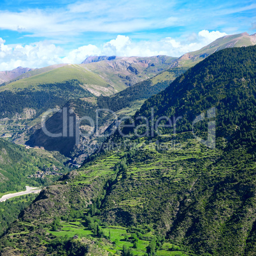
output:
[[[69,168],[64,166],[66,161],[67,159],[57,152],[51,154],[43,150],[27,150],[24,146],[0,139],[1,195],[6,192],[25,190],[25,185],[50,185],[53,180],[56,180],[53,176],[46,176],[43,179],[28,178],[28,176],[46,168],[52,169],[53,166],[58,168],[59,173],[67,173]]]

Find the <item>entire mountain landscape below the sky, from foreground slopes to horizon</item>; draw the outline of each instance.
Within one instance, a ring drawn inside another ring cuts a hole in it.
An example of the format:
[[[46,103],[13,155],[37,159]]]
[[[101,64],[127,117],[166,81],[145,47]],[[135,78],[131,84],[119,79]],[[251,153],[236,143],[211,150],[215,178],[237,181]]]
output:
[[[255,64],[243,33],[180,58],[94,56],[6,82],[0,192],[43,189],[1,205],[1,255],[255,255]],[[49,168],[63,175],[34,178]]]

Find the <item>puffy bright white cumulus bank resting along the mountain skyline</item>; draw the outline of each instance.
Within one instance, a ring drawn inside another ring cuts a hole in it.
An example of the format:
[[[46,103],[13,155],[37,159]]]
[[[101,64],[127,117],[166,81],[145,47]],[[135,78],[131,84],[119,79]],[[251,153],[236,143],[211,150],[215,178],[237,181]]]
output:
[[[141,56],[169,55],[180,57],[184,53],[199,50],[212,41],[227,34],[219,31],[200,31],[188,36],[186,41],[163,38],[159,41],[132,41],[129,36],[118,35],[101,46],[84,45],[71,50],[61,57],[64,49],[48,41],[31,45],[6,45],[0,38],[0,70],[10,70],[18,66],[41,68],[59,63],[81,63],[90,55]]]

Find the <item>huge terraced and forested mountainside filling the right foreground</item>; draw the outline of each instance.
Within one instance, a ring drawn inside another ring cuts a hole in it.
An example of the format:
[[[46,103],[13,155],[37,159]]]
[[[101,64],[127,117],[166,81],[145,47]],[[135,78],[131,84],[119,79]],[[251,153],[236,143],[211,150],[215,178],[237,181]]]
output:
[[[146,100],[134,115],[141,136],[116,132],[114,147],[45,188],[1,237],[1,253],[255,255],[255,50],[213,53]],[[146,131],[138,117],[152,108],[155,121],[181,118]],[[199,139],[210,121],[216,145]]]

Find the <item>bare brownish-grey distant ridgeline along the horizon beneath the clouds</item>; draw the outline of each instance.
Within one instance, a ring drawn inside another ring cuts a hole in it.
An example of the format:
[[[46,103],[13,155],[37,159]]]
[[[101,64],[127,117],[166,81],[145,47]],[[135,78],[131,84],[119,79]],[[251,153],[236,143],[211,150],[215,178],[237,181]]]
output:
[[[73,65],[73,68],[75,66],[76,68],[81,66],[81,68],[92,71],[93,73],[96,73],[96,75],[101,76],[101,78],[105,80],[106,84],[110,84],[111,87],[114,87],[117,89],[117,91],[120,91],[124,90],[127,86],[131,86],[148,78],[152,78],[153,76],[164,72],[169,68],[190,68],[218,50],[231,47],[251,46],[255,44],[256,34],[249,35],[247,32],[243,32],[241,34],[228,35],[218,38],[210,43],[210,45],[204,46],[200,50],[194,52],[185,53],[178,58],[169,57],[166,55],[157,55],[152,57],[118,57],[115,55],[89,56],[83,60],[82,64]],[[59,68],[63,68],[67,65],[68,64],[55,64],[39,69],[18,67],[12,71],[1,71],[0,84],[15,82],[17,80],[23,80],[24,78],[29,79],[32,76],[43,75],[46,72],[56,69],[57,71],[54,72],[54,76],[58,77],[56,73],[58,73]],[[82,69],[80,69],[80,71],[81,70]],[[69,71],[71,70],[65,70],[65,73],[68,74]],[[64,76],[64,79],[68,79],[68,77]],[[76,79],[76,77],[72,76],[70,79]],[[59,81],[58,78],[56,82],[63,81]],[[54,77],[51,82],[55,82]],[[26,83],[27,82],[25,82],[25,84]],[[114,91],[115,90],[112,90],[111,92],[106,93],[103,91],[99,92],[99,90],[96,89],[96,94],[110,95],[113,94]]]

